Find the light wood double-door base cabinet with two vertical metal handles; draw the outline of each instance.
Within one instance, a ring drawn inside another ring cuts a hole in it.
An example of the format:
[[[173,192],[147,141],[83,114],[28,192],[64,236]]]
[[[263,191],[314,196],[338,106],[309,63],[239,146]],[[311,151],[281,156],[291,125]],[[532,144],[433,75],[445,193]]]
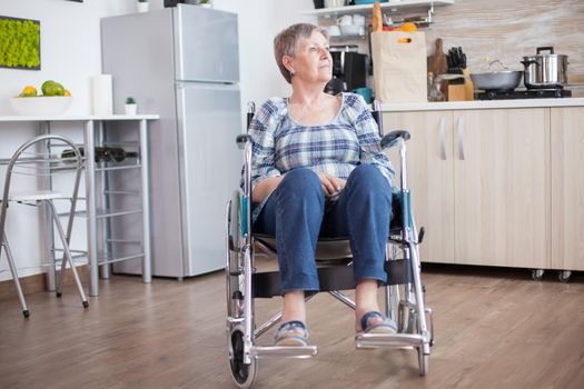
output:
[[[550,268],[548,109],[386,112],[384,123],[412,132],[424,261]]]

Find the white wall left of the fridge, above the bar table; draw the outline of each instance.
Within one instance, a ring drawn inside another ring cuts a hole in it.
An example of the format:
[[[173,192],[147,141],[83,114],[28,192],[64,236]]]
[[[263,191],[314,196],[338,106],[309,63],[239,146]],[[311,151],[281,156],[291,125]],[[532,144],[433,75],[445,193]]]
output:
[[[40,91],[48,79],[71,91],[68,113],[90,113],[90,78],[101,72],[99,19],[135,9],[135,0],[0,0],[1,16],[41,23],[41,70],[0,68],[0,114],[13,114],[8,98],[28,84]]]

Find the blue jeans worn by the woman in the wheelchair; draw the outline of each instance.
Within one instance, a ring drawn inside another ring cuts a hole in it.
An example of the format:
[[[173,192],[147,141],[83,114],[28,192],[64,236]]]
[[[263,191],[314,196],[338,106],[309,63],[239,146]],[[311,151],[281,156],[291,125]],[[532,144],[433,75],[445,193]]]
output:
[[[354,279],[385,281],[385,247],[392,215],[392,189],[379,169],[359,164],[338,200],[328,203],[320,180],[309,169],[287,172],[259,213],[254,230],[276,236],[280,285],[318,291],[315,263],[318,237],[348,237]]]

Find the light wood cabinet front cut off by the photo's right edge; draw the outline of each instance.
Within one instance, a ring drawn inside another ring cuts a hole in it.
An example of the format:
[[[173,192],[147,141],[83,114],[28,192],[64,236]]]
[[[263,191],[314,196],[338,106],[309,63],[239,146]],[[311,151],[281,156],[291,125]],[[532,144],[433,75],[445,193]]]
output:
[[[552,267],[584,270],[584,108],[552,108]]]

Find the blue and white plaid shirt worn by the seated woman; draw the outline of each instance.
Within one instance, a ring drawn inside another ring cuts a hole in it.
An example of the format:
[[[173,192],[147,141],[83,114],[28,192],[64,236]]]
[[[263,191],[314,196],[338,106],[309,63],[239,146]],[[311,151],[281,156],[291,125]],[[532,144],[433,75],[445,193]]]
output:
[[[249,134],[254,140],[251,188],[297,168],[346,180],[359,163],[377,166],[389,184],[394,178],[377,123],[359,94],[343,93],[337,117],[323,126],[299,124],[288,114],[288,99],[269,99],[251,120]],[[266,201],[255,208],[254,221]]]

